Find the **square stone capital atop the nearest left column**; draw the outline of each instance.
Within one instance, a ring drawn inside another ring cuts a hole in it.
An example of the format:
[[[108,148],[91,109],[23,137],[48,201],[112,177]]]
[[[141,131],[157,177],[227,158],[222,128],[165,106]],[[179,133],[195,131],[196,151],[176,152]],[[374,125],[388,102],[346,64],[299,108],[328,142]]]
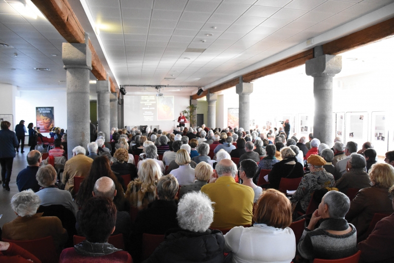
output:
[[[92,51],[87,44],[63,43],[64,68],[86,68],[92,70]]]

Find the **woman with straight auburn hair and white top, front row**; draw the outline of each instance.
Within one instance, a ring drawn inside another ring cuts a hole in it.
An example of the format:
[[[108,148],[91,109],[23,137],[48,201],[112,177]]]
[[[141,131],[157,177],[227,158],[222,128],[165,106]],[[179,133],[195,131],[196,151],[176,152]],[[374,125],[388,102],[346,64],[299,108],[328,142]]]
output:
[[[296,255],[296,237],[289,228],[289,199],[274,189],[264,191],[253,219],[253,227],[235,227],[225,235],[225,251],[232,252],[232,262],[290,263]]]

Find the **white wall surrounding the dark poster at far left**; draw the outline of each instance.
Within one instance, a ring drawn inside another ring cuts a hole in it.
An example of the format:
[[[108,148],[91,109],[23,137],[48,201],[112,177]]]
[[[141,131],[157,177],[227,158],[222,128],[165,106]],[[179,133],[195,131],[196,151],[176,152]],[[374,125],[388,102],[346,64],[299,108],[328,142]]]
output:
[[[67,129],[66,91],[20,91],[15,104],[16,120],[24,120],[26,128],[31,122],[36,126],[35,107],[54,107],[55,126]]]

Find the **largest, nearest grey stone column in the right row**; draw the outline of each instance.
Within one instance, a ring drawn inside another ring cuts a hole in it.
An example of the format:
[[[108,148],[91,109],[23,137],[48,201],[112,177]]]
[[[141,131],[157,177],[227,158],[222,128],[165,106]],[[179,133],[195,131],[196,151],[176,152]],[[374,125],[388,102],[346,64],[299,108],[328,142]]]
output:
[[[305,63],[306,75],[313,77],[313,95],[315,98],[313,137],[331,147],[333,144],[332,78],[335,74],[341,72],[342,57],[319,55]]]

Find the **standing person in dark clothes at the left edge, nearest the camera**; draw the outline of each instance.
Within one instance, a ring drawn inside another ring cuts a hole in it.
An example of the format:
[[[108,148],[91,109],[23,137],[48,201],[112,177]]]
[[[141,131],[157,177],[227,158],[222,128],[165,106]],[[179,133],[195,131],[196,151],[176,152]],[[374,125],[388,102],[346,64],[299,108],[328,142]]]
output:
[[[3,188],[9,191],[9,180],[11,178],[12,163],[14,162],[15,148],[18,146],[18,139],[15,132],[9,130],[11,124],[7,121],[1,122],[0,131],[0,165],[1,181]]]

